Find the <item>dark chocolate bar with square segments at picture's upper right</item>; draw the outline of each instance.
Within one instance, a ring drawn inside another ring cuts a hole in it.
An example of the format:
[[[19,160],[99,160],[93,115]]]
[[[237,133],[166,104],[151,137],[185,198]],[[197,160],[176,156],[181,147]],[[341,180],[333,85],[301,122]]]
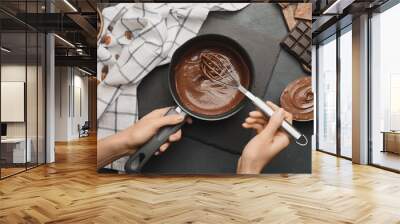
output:
[[[281,46],[292,54],[300,63],[311,68],[311,27],[305,22],[298,22],[283,39]]]

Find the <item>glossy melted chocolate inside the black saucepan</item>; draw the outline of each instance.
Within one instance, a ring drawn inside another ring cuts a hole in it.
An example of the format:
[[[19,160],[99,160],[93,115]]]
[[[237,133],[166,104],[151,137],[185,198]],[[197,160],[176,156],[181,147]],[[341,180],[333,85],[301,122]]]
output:
[[[185,53],[175,66],[176,92],[181,103],[199,115],[217,116],[230,112],[244,98],[236,88],[208,79],[200,68],[200,54],[225,55],[233,65],[232,75],[239,76],[245,88],[250,85],[250,71],[243,58],[229,48],[196,47]]]

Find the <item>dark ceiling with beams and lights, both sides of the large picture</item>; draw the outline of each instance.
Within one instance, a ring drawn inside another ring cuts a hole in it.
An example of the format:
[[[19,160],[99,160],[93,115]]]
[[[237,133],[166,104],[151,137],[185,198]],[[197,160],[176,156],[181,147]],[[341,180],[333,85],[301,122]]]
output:
[[[313,39],[335,32],[332,27],[346,16],[357,16],[388,0],[311,0],[313,4]],[[46,4],[47,2],[47,4]],[[54,32],[56,64],[82,66],[96,71],[96,4],[113,0],[1,0],[0,28],[2,45],[11,49],[8,58],[35,57],[36,39],[29,32]],[[48,13],[48,12],[52,13]],[[351,18],[349,19],[351,22]],[[343,23],[345,24],[345,23]],[[25,35],[28,33],[27,40]],[[25,41],[27,49],[25,50]],[[4,54],[4,52],[2,52]],[[4,57],[3,57],[4,58]],[[24,60],[25,61],[25,60]],[[81,63],[81,64],[80,64]]]

